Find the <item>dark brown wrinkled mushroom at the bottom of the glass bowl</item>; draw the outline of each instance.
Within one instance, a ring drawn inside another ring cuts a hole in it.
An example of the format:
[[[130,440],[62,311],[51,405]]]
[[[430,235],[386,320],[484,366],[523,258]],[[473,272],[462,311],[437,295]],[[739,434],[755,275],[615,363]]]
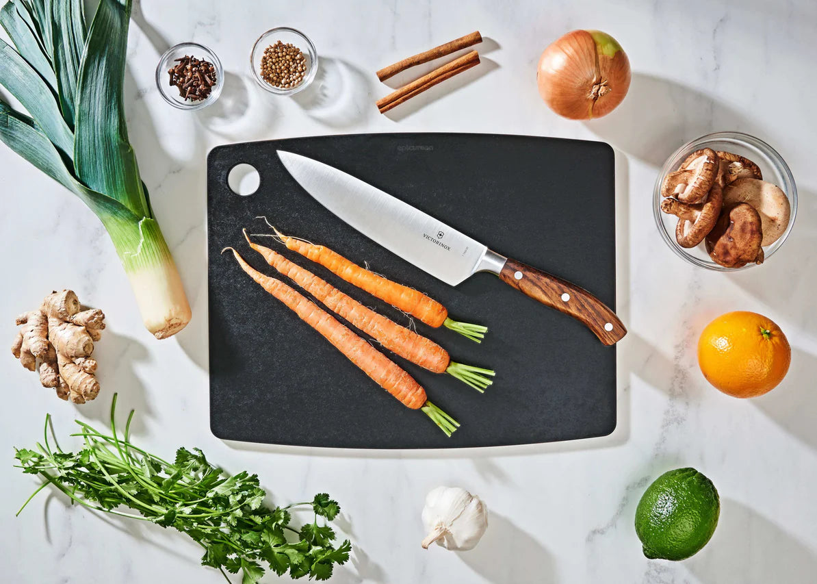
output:
[[[763,263],[761,216],[751,204],[724,206],[721,217],[706,236],[707,252],[723,267]]]

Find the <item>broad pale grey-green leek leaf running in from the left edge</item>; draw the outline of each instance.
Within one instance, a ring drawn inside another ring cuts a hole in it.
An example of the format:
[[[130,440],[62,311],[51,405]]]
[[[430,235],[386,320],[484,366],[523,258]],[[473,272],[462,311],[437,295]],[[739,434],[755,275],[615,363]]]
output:
[[[60,114],[51,89],[5,41],[0,39],[0,83],[37,119],[49,140],[73,158],[74,136]]]

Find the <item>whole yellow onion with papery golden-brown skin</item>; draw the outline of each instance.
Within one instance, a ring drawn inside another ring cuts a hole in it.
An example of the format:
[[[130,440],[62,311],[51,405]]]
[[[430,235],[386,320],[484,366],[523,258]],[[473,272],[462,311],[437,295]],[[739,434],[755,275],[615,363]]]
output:
[[[609,34],[574,30],[545,49],[536,80],[542,99],[557,114],[600,118],[627,95],[630,60]]]

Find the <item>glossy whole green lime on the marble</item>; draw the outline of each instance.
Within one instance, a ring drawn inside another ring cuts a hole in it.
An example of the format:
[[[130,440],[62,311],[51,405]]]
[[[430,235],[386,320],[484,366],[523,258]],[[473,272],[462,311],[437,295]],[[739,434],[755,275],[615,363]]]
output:
[[[687,559],[712,537],[721,500],[695,469],[675,469],[647,487],[636,509],[636,533],[650,559]]]

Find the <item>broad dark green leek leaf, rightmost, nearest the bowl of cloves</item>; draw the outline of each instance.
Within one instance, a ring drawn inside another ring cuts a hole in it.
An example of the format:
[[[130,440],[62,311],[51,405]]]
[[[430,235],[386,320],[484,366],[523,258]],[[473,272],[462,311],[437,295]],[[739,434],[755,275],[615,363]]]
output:
[[[88,31],[77,91],[74,166],[78,178],[147,216],[136,155],[127,139],[123,81],[132,0],[101,0]]]

